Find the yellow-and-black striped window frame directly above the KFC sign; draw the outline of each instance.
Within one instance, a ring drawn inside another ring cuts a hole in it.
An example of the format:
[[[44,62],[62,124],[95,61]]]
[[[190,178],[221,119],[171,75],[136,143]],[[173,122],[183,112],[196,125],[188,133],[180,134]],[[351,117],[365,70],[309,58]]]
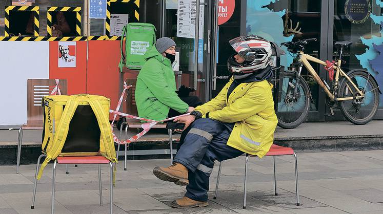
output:
[[[75,12],[76,13],[76,35],[81,36],[81,7],[48,7],[47,13],[47,31],[48,36],[52,36],[52,15],[53,12]]]

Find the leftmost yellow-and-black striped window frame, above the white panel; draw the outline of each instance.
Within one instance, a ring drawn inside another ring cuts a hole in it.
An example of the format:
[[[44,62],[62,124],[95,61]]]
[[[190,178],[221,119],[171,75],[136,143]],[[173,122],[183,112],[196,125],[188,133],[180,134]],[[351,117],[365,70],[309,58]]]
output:
[[[7,6],[5,8],[4,14],[4,31],[5,36],[10,36],[10,11],[33,11],[34,12],[34,36],[38,36],[38,27],[39,27],[39,8],[38,6]],[[12,17],[16,18],[16,17]]]

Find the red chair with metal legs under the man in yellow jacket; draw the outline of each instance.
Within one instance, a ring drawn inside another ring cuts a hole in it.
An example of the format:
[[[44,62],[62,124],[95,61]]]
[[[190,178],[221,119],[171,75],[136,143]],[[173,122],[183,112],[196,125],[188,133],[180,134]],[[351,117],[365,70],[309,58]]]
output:
[[[276,170],[275,170],[275,156],[282,156],[282,155],[294,155],[294,162],[295,162],[295,190],[296,190],[296,205],[299,206],[299,193],[298,193],[298,165],[297,165],[297,157],[294,152],[294,150],[290,147],[284,147],[272,144],[270,147],[269,152],[265,156],[273,156],[273,163],[274,163],[274,188],[275,188],[275,195],[278,195],[278,188],[277,188],[277,182],[276,182]],[[254,157],[254,155],[246,154],[246,162],[245,162],[245,182],[244,182],[244,209],[246,209],[246,178],[247,178],[247,161],[249,159],[249,156]],[[219,185],[219,177],[221,174],[221,168],[222,168],[222,162],[219,162],[219,168],[218,168],[218,177],[217,177],[217,184],[215,186],[215,193],[214,193],[214,199],[217,198],[217,190]]]

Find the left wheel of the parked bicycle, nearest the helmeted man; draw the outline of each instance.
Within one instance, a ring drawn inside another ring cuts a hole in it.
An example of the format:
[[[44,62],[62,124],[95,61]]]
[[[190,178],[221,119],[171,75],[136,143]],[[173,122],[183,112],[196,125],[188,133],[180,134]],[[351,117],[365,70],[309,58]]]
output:
[[[307,82],[301,78],[297,85],[296,97],[293,99],[296,74],[285,72],[280,82],[281,97],[278,102],[278,126],[284,129],[294,129],[303,123],[309,114],[310,90]],[[277,102],[277,100],[275,100]]]

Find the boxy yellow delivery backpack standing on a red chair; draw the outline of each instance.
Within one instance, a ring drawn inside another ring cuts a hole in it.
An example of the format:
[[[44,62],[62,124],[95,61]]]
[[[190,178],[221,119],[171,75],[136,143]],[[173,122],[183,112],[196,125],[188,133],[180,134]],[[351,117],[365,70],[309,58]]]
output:
[[[55,95],[43,97],[43,153],[45,166],[57,156],[106,157],[117,162],[109,124],[110,99],[97,95]]]

